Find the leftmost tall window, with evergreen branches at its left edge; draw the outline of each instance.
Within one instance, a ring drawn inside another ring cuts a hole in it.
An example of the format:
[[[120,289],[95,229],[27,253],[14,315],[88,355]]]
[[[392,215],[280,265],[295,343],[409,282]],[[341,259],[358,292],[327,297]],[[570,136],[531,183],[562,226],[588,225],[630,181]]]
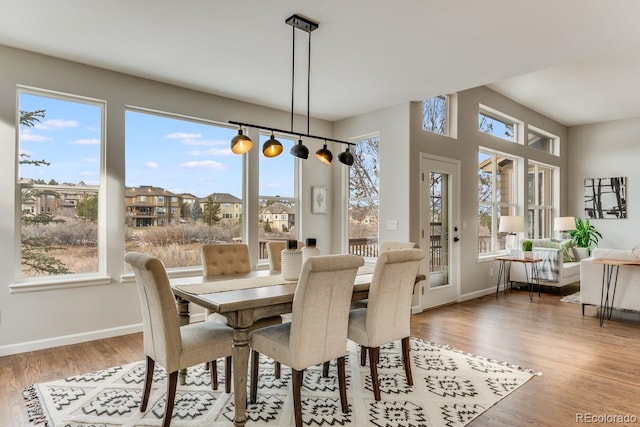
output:
[[[20,277],[97,273],[105,104],[26,89],[18,96]]]

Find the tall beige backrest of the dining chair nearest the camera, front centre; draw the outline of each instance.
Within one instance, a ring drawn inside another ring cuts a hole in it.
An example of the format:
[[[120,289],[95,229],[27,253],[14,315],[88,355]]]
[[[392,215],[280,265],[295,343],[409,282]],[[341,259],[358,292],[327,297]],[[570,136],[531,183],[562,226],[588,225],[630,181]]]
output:
[[[345,355],[353,284],[363,264],[357,255],[321,255],[304,263],[291,314],[292,368]]]

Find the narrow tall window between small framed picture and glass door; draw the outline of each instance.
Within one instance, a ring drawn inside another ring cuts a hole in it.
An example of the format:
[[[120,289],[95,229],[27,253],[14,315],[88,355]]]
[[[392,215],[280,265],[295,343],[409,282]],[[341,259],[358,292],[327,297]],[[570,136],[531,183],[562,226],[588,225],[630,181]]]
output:
[[[378,136],[356,141],[349,168],[349,253],[365,257],[378,256],[379,145]]]

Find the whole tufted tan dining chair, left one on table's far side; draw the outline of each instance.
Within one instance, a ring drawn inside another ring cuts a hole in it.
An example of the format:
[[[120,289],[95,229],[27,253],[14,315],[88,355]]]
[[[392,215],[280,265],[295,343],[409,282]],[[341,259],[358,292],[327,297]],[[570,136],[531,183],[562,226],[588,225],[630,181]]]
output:
[[[249,273],[251,271],[251,259],[249,258],[249,246],[245,243],[207,243],[201,247],[202,274],[205,277],[221,276],[225,274]],[[227,325],[228,321],[220,313],[212,313],[205,309],[205,318],[208,321]],[[264,326],[282,323],[282,317],[272,316],[258,320],[251,326],[250,331]],[[209,366],[209,363],[207,363]],[[217,372],[216,362],[213,363],[212,372]],[[227,361],[226,375],[230,375],[231,363]],[[275,376],[280,378],[280,364],[276,363]],[[230,392],[231,383],[225,382],[226,392]]]

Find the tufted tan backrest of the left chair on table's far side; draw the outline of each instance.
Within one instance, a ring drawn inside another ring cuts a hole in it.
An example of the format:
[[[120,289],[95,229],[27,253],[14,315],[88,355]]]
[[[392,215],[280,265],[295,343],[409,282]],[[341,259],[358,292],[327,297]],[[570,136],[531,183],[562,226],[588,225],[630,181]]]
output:
[[[251,271],[249,246],[245,243],[209,243],[202,245],[202,274],[248,273]]]

